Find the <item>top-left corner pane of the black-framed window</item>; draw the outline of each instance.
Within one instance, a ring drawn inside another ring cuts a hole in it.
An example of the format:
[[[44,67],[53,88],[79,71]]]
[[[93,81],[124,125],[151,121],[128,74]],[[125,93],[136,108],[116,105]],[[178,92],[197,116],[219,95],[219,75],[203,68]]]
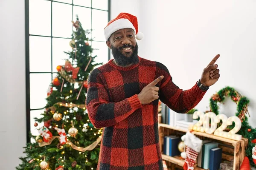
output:
[[[51,36],[51,1],[29,0],[29,34]]]

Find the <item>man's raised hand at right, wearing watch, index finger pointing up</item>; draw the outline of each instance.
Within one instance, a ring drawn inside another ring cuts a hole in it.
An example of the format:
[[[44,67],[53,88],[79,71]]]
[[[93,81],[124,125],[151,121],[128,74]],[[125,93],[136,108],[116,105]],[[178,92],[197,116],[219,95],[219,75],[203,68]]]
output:
[[[220,78],[220,70],[218,69],[218,65],[215,64],[217,59],[220,57],[220,54],[216,55],[212,61],[207,65],[206,68],[204,68],[204,71],[202,73],[200,82],[205,86],[211,86],[214,85],[215,82],[218,81]]]

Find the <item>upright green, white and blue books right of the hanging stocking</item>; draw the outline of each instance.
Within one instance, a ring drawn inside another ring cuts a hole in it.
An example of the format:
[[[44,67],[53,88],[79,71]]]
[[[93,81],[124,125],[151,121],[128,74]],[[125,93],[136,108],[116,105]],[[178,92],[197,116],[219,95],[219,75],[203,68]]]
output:
[[[197,166],[209,170],[218,170],[221,159],[222,148],[218,147],[218,143],[203,140],[202,149],[198,153]]]

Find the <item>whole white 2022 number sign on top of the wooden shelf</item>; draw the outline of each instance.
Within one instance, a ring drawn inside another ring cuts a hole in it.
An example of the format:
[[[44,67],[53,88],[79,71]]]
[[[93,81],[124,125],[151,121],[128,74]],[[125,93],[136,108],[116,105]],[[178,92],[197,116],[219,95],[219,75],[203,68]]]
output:
[[[241,120],[237,116],[231,116],[227,118],[224,114],[219,114],[216,116],[213,112],[208,112],[204,114],[204,112],[201,111],[195,111],[193,114],[193,119],[198,119],[199,121],[193,126],[193,130],[198,132],[206,132],[206,133],[214,133],[215,136],[221,136],[228,139],[233,140],[241,140],[242,136],[236,134],[240,128],[241,128]],[[209,121],[211,119],[211,127],[209,127]],[[222,125],[217,128],[217,124],[222,120]],[[235,127],[230,130],[229,132],[225,132],[228,125],[232,125],[232,123],[235,122]],[[204,127],[202,125],[204,124]]]

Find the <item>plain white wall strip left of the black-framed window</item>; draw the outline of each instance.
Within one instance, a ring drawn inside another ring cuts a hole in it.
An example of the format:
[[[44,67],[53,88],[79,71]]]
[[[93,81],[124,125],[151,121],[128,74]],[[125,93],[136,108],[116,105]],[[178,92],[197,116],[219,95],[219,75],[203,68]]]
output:
[[[0,0],[0,169],[14,170],[26,144],[25,1]]]

